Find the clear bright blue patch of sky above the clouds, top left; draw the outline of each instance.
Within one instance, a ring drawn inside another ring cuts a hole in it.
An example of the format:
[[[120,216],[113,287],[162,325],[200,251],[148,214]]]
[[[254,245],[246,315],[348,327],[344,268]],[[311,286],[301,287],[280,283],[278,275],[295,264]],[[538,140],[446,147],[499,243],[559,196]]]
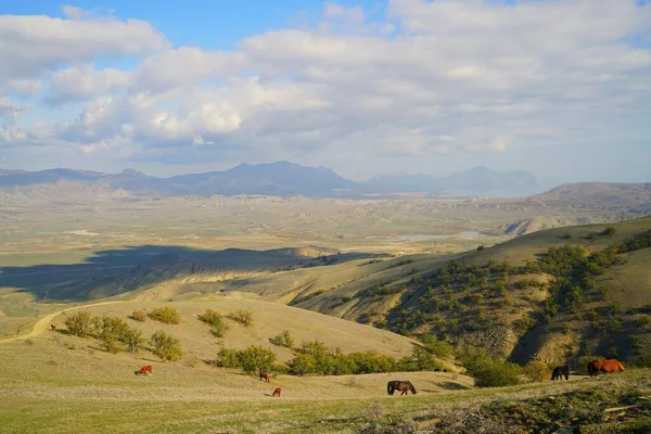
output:
[[[340,4],[360,5],[369,16],[380,16],[384,1],[344,0]],[[165,34],[176,46],[199,46],[231,50],[251,35],[315,21],[323,3],[315,0],[186,0],[186,1],[2,1],[0,13],[63,17],[62,4],[86,11],[111,11],[122,20],[142,20]],[[101,4],[98,7],[98,4]]]

